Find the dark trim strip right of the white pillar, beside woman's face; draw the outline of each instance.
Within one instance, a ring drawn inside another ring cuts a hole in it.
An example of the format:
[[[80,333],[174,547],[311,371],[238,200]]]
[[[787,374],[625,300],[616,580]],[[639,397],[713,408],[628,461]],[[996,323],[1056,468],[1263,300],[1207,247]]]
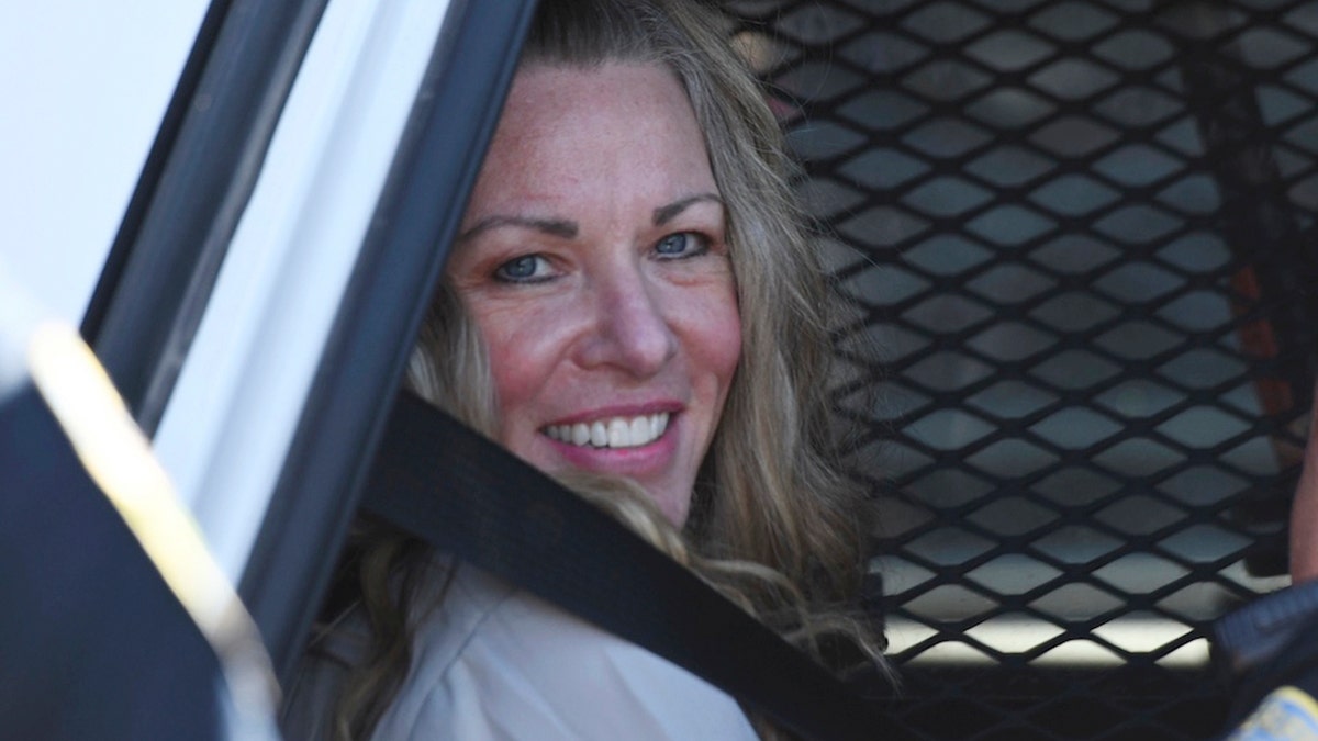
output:
[[[534,0],[453,0],[436,40],[239,587],[285,680],[361,500],[534,9]]]

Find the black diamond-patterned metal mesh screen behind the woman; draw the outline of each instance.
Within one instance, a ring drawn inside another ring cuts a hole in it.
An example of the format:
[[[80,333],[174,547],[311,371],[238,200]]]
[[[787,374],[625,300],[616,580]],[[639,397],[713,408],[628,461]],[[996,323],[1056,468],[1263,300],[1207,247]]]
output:
[[[837,400],[882,505],[894,716],[1217,730],[1205,628],[1285,583],[1318,4],[725,5],[853,307]]]

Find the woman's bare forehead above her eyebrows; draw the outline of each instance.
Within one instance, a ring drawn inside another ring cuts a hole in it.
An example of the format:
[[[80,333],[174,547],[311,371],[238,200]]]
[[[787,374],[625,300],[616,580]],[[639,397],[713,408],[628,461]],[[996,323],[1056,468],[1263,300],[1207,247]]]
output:
[[[473,208],[592,194],[713,191],[704,137],[662,65],[531,66],[518,73]]]

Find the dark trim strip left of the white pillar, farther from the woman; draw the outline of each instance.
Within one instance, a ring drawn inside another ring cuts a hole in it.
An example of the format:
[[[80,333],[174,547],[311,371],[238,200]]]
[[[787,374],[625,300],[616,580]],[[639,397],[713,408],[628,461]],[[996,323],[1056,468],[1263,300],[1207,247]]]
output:
[[[328,0],[214,0],[82,332],[154,435]]]

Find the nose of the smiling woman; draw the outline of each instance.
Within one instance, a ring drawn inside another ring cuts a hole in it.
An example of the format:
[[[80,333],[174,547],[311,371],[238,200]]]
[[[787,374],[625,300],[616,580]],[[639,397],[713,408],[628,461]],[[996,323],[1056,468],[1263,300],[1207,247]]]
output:
[[[593,286],[593,327],[581,349],[587,368],[614,367],[646,378],[658,373],[677,352],[662,291],[638,265],[597,276]]]

